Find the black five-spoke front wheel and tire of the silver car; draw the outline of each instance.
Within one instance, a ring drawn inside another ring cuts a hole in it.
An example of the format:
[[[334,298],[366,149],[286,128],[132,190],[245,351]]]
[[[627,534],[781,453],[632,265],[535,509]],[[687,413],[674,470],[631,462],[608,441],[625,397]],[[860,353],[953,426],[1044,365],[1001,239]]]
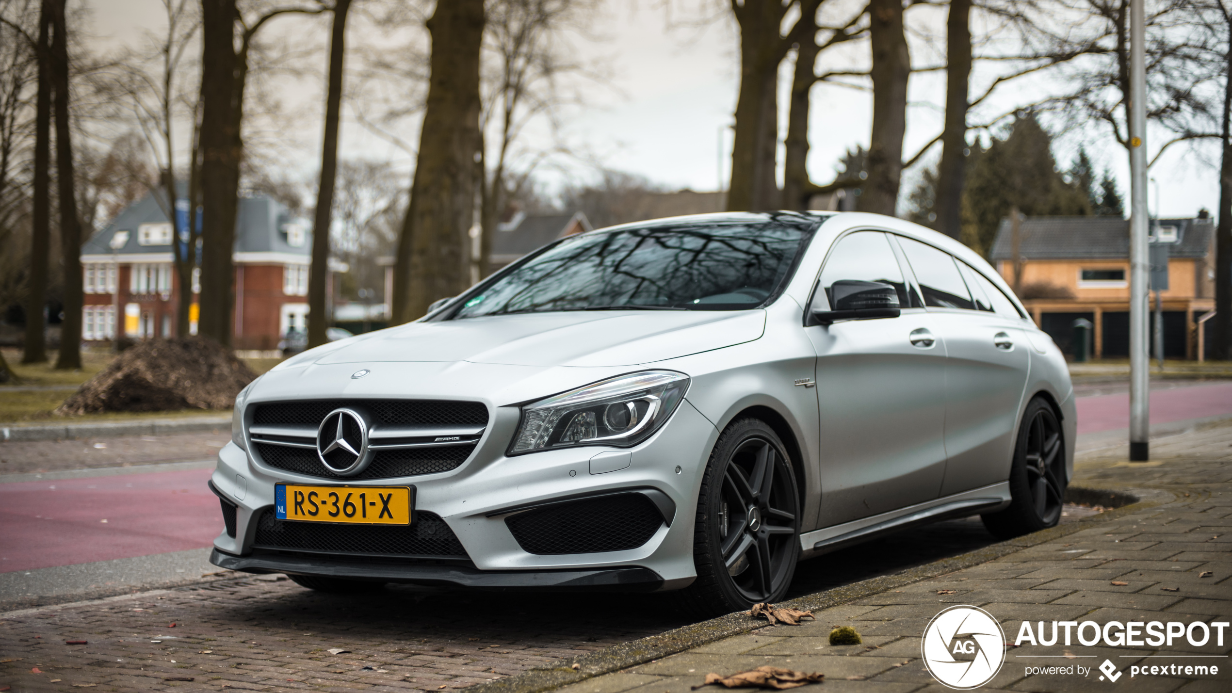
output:
[[[791,459],[774,430],[758,419],[732,422],[702,475],[697,580],[681,591],[684,609],[711,618],[781,599],[800,559],[800,505]]]

